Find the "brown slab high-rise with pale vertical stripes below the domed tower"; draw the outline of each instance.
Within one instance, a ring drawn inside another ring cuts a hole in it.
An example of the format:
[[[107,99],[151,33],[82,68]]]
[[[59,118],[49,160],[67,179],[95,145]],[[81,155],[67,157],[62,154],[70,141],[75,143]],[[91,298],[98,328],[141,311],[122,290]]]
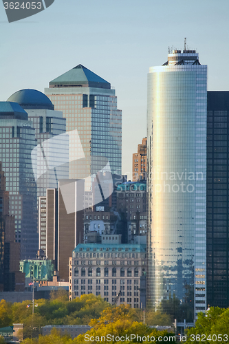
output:
[[[59,180],[58,189],[47,189],[40,197],[39,248],[65,281],[69,252],[83,243],[83,197],[78,197],[83,193],[83,180]]]

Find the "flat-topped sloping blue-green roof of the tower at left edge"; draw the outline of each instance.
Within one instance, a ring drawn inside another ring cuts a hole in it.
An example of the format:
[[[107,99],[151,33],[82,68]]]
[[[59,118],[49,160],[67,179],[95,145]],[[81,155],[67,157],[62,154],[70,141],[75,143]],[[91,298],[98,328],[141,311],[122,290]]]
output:
[[[28,114],[18,103],[0,102],[0,118],[17,118],[20,120],[28,120]]]

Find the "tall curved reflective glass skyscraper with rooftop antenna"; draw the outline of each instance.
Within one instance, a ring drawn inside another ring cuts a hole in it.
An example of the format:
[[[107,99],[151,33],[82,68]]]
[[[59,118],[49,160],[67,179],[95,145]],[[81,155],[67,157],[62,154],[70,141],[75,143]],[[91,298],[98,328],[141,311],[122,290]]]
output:
[[[192,321],[206,310],[207,66],[173,50],[148,76],[147,303]]]

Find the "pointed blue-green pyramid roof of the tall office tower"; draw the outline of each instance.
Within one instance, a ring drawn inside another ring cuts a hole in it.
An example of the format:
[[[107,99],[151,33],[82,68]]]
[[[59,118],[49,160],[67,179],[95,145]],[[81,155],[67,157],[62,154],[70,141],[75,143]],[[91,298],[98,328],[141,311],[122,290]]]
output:
[[[111,84],[83,65],[77,65],[50,81],[50,87],[97,87],[110,89]]]

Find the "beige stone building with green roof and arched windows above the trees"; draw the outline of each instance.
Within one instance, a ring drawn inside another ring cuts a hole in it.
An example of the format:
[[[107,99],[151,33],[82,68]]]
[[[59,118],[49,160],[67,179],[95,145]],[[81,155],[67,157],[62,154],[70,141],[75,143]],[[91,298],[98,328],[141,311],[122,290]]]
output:
[[[141,308],[140,277],[145,272],[146,245],[79,244],[69,259],[70,299],[95,294],[109,303]]]

